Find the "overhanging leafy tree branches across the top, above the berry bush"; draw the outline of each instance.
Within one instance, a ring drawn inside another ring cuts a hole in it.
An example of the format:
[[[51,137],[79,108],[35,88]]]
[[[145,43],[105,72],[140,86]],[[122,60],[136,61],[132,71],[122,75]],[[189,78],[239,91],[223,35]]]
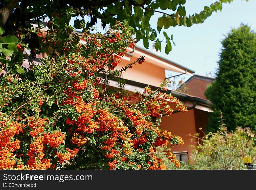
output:
[[[168,54],[172,50],[170,41],[172,37],[168,34],[168,36],[165,35],[165,39],[157,40],[159,33],[170,27],[190,27],[193,24],[203,23],[212,12],[222,10],[222,3],[231,3],[232,1],[219,0],[205,6],[200,13],[186,15],[186,0],[22,0],[17,1],[19,8],[14,6],[10,15],[4,15],[9,19],[7,23],[0,23],[0,26],[3,27],[0,28],[0,33],[4,31],[13,33],[17,31],[17,28],[30,27],[32,23],[45,21],[47,17],[51,19],[55,15],[60,17],[58,23],[60,28],[68,25],[72,17],[76,17],[74,28],[80,29],[80,25],[83,24],[86,30],[94,26],[97,19],[101,21],[102,28],[106,28],[107,24],[112,27],[116,21],[122,21],[129,26],[130,30],[136,32],[137,41],[143,40],[145,48],[148,48],[149,40],[155,41],[156,48],[160,50],[163,43],[166,43],[165,53]],[[6,4],[2,4],[1,8],[4,9]],[[160,13],[156,28],[150,23],[155,12]],[[9,55],[10,52],[6,51],[6,54]]]

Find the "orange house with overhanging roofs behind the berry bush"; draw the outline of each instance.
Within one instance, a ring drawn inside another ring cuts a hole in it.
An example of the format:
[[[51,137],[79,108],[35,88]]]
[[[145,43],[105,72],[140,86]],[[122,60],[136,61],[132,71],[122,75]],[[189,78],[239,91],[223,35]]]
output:
[[[122,79],[125,79],[125,90],[127,91],[139,91],[142,93],[143,88],[148,85],[151,86],[152,90],[157,89],[161,81],[166,79],[165,70],[191,76],[190,80],[187,81],[187,85],[191,89],[191,94],[174,90],[167,91],[167,93],[177,97],[187,107],[188,112],[181,113],[175,110],[172,103],[168,102],[175,111],[173,111],[173,115],[170,117],[163,116],[162,123],[160,124],[160,128],[170,131],[173,135],[182,137],[184,145],[175,145],[172,151],[179,160],[186,162],[192,154],[189,145],[192,143],[196,145],[197,142],[197,139],[191,135],[198,133],[199,128],[205,127],[208,113],[211,112],[211,102],[207,100],[205,96],[193,92],[197,91],[193,89],[194,85],[197,86],[196,88],[201,88],[200,85],[203,84],[204,86],[201,89],[201,91],[203,91],[203,88],[206,87],[206,83],[204,80],[201,81],[199,75],[194,75],[195,71],[137,46],[126,53],[125,57],[122,58],[121,63],[116,68],[121,69],[142,55],[145,56],[145,62],[142,65],[134,65],[120,76]],[[196,82],[195,79],[197,80],[198,77],[200,78],[199,82],[194,84],[194,82]],[[212,81],[211,79],[209,80]],[[111,80],[109,85],[118,87],[118,83],[115,80]],[[191,139],[194,139],[194,141],[191,142]]]

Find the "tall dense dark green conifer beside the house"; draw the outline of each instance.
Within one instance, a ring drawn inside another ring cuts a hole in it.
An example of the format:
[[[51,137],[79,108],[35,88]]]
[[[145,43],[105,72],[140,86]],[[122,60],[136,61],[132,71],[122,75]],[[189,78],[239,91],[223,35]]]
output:
[[[256,126],[256,33],[241,25],[222,41],[215,81],[205,95],[213,103],[208,129],[216,131],[223,114],[229,131]]]

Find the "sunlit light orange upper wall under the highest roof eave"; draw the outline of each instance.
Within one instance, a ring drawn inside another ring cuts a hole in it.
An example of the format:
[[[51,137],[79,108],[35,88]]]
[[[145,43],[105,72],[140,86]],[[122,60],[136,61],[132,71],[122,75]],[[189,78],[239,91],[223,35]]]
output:
[[[136,57],[130,58],[131,61],[136,60]],[[122,67],[130,64],[131,61],[123,59],[116,69],[122,69]],[[145,61],[142,64],[133,65],[132,68],[129,68],[122,73],[121,77],[152,86],[159,86],[161,81],[164,81],[165,79],[165,69]]]

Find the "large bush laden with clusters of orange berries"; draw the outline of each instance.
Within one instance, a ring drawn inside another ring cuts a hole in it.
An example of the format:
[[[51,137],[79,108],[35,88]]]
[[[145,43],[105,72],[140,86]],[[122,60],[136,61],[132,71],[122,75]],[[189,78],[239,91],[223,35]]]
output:
[[[165,169],[157,146],[178,167],[167,144],[183,140],[158,126],[173,112],[166,99],[180,111],[186,107],[162,93],[163,85],[143,93],[109,86],[144,62],[141,56],[116,68],[135,46],[134,33],[122,22],[105,34],[81,28],[85,32],[77,34],[55,16],[47,26],[1,37],[13,52],[0,54],[8,60],[1,61],[0,169]],[[40,50],[47,57],[33,61]],[[122,79],[118,84],[124,86]]]

